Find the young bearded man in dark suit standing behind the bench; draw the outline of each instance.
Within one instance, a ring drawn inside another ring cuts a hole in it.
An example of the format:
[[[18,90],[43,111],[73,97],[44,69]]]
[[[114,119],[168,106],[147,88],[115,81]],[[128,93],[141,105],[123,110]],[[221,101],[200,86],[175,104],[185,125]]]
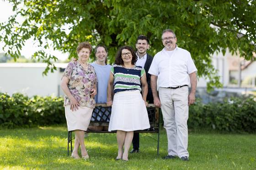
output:
[[[153,60],[153,57],[151,57],[147,50],[149,50],[149,39],[147,36],[139,35],[136,42],[136,56],[138,57],[138,60],[136,62],[137,66],[144,67],[148,82],[148,95],[147,95],[147,101],[149,103],[154,103],[154,98],[152,95],[151,87],[150,87],[150,77],[151,75],[148,73],[149,67],[151,65],[151,62]],[[133,149],[130,151],[130,153],[138,153],[139,152],[139,133],[133,134]]]

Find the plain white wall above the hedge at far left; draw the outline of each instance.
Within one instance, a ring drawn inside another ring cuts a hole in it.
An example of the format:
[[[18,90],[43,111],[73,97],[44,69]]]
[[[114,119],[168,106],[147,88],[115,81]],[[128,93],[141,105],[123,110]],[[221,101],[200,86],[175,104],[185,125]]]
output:
[[[61,79],[59,68],[43,76],[45,67],[38,67],[36,64],[35,66],[37,67],[28,67],[26,64],[22,67],[18,65],[1,67],[0,65],[0,92],[6,92],[9,95],[20,92],[28,96],[57,96]]]

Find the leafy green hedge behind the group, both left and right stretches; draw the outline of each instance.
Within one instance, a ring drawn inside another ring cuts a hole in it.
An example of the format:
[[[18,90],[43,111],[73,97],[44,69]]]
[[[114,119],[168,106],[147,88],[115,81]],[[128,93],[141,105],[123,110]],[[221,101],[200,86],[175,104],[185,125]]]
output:
[[[189,129],[216,129],[226,132],[256,133],[256,98],[224,99],[222,103],[203,104],[197,100],[189,107]],[[0,126],[7,128],[63,124],[64,99],[29,98],[21,93],[0,93]]]

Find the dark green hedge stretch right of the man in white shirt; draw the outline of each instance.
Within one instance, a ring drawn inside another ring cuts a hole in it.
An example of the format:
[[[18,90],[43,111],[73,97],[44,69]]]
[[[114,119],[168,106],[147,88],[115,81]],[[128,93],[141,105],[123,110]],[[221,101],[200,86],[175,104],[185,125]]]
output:
[[[188,127],[256,133],[256,98],[230,98],[205,105],[198,101],[189,108]]]

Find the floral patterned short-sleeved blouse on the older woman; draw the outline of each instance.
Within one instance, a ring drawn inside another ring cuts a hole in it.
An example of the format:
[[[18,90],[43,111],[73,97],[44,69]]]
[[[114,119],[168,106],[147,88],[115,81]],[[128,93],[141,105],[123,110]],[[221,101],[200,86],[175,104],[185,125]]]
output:
[[[69,78],[68,88],[72,96],[77,100],[80,106],[95,108],[95,100],[91,98],[91,89],[97,83],[97,77],[94,68],[88,64],[84,68],[77,61],[69,62],[63,77]],[[70,105],[67,95],[65,95],[64,106]]]

